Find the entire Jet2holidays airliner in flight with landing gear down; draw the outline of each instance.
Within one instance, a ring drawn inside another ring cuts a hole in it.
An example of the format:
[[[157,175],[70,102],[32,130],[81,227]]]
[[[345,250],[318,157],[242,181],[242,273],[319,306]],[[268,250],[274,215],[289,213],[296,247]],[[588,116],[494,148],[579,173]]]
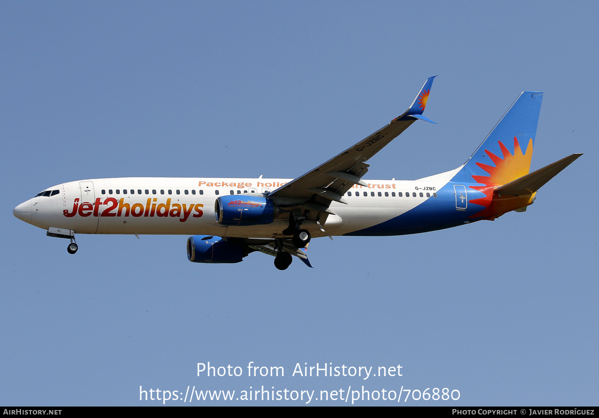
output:
[[[370,157],[416,120],[432,122],[422,112],[433,78],[404,114],[295,179],[79,180],[49,187],[13,214],[71,240],[71,254],[75,234],[189,234],[189,261],[237,263],[259,251],[283,270],[292,256],[311,267],[312,237],[416,234],[525,211],[543,184],[582,155],[529,174],[543,93],[522,92],[464,165],[414,181],[363,180]]]

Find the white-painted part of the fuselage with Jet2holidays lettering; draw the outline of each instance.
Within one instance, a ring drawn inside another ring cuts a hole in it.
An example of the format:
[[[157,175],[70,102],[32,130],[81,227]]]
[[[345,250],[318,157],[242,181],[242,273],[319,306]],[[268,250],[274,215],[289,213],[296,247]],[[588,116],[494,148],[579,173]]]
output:
[[[344,195],[348,204],[332,202],[324,225],[305,222],[314,237],[343,235],[400,216],[436,198],[452,172],[416,181],[365,180]],[[216,222],[219,196],[262,196],[287,178],[123,177],[71,181],[50,187],[15,208],[20,219],[43,229],[71,229],[75,234],[207,234],[219,237],[280,237],[285,216],[268,225],[223,226]],[[55,190],[59,190],[58,193]],[[441,199],[439,199],[441,200]]]

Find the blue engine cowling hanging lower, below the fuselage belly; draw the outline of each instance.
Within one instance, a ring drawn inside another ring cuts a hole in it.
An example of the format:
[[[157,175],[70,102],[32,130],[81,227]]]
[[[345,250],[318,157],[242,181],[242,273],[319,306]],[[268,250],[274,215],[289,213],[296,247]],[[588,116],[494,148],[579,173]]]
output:
[[[194,235],[187,238],[187,259],[194,263],[238,263],[247,256],[241,240]]]

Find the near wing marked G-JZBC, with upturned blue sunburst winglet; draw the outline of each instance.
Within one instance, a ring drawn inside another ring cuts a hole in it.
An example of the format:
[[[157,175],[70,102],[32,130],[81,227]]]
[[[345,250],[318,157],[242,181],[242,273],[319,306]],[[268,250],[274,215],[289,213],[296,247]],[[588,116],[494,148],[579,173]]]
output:
[[[436,75],[426,79],[410,108],[401,116],[327,162],[274,190],[269,197],[280,205],[301,205],[304,209],[319,213],[331,213],[328,211],[331,201],[346,203],[341,196],[354,184],[366,186],[361,178],[368,172],[369,165],[366,161],[370,157],[383,149],[417,119],[432,122],[423,117],[422,112],[426,107],[432,80],[435,77]]]

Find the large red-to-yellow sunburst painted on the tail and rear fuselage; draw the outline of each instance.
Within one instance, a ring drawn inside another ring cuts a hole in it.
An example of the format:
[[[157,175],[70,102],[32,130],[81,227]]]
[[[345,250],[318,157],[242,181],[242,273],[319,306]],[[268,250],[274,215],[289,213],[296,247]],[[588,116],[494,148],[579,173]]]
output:
[[[491,158],[495,166],[477,162],[476,165],[488,172],[489,175],[473,175],[474,181],[485,184],[485,186],[470,186],[471,189],[485,193],[485,196],[471,200],[472,203],[485,207],[479,213],[474,214],[471,218],[485,217],[492,219],[507,211],[514,210],[513,197],[501,198],[497,193],[494,194],[494,189],[498,186],[503,186],[510,181],[516,180],[523,175],[527,175],[530,171],[530,160],[533,156],[533,140],[528,141],[526,153],[522,153],[518,138],[514,137],[514,155],[499,141],[502,156],[498,157],[489,150],[485,150],[486,154]],[[529,196],[530,197],[530,196]],[[522,196],[527,199],[528,197]]]

